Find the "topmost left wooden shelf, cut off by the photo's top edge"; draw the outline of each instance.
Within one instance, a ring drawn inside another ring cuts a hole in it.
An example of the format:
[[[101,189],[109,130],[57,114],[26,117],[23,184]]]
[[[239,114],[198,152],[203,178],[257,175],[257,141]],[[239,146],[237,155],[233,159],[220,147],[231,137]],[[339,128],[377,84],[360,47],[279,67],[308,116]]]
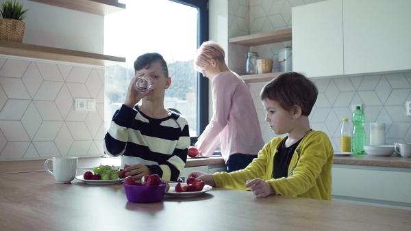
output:
[[[125,4],[117,0],[29,0],[47,5],[54,5],[59,8],[78,10],[90,14],[105,16],[125,10]]]

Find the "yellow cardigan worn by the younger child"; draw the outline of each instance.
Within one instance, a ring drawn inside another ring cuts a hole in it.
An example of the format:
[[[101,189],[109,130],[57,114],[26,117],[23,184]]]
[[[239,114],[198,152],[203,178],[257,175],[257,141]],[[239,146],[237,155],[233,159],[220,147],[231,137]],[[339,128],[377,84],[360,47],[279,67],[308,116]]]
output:
[[[277,146],[286,137],[275,137],[265,144],[245,169],[236,172],[212,174],[217,187],[248,189],[245,182],[260,178],[269,182],[275,195],[292,195],[302,198],[331,200],[331,168],[334,150],[329,137],[322,131],[310,131],[297,146],[288,177],[273,179],[274,156]]]

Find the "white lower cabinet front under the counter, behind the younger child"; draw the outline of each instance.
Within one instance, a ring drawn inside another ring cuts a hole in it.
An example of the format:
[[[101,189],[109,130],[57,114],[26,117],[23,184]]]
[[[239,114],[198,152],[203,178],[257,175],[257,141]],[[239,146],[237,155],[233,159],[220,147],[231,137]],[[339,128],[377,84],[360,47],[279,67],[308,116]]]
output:
[[[411,210],[411,169],[337,165],[332,167],[332,200]]]

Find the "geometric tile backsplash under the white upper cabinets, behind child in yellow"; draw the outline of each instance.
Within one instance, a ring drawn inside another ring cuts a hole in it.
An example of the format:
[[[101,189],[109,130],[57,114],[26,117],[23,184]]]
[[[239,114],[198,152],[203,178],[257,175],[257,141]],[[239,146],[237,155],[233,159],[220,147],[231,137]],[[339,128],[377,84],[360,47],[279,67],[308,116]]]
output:
[[[406,101],[411,101],[411,72],[312,81],[319,89],[319,97],[310,114],[311,128],[327,133],[334,150],[340,150],[343,118],[351,122],[351,105],[358,104],[364,107],[366,144],[369,144],[370,122],[386,124],[387,144],[411,143],[411,118],[406,116]],[[268,142],[276,135],[264,121],[265,111],[259,98],[264,84],[251,83],[250,87],[260,116],[263,138]],[[350,126],[352,129],[352,124]]]

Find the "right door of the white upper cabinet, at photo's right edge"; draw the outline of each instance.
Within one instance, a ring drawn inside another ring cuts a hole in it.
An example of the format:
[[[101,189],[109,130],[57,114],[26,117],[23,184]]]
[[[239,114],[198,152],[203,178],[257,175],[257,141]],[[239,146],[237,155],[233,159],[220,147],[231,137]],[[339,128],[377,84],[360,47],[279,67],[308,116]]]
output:
[[[411,69],[411,1],[343,0],[343,12],[345,74]]]

